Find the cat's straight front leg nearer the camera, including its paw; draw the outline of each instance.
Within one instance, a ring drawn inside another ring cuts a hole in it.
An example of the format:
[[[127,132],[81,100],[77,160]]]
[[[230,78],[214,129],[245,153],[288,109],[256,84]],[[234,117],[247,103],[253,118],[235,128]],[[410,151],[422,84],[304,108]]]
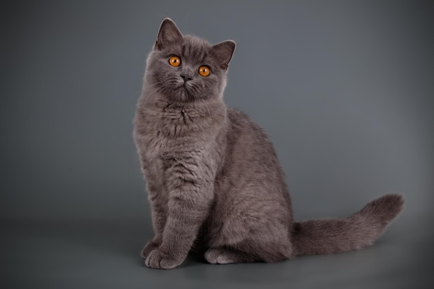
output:
[[[171,269],[186,258],[213,199],[213,183],[167,174],[169,198],[162,243],[146,257],[150,268]]]

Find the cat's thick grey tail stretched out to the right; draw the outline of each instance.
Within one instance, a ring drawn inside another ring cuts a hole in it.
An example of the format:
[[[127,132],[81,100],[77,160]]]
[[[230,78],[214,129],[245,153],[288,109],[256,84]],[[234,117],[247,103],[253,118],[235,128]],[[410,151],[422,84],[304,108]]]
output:
[[[294,222],[293,256],[353,251],[371,245],[403,208],[401,195],[383,195],[349,218]]]

